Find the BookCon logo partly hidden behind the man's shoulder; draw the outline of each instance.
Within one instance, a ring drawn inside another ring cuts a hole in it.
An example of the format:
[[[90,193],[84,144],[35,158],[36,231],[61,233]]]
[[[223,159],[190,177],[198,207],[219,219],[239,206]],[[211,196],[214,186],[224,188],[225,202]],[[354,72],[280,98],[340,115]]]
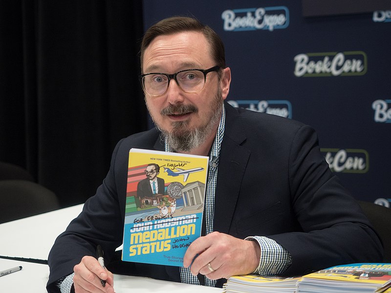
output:
[[[326,162],[333,172],[367,173],[369,155],[365,149],[321,148]]]

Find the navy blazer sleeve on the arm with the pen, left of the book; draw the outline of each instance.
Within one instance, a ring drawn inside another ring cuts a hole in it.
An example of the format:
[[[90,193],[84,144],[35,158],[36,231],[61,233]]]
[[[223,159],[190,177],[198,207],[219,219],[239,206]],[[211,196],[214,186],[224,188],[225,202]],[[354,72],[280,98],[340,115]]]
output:
[[[123,158],[124,154],[118,155],[121,142],[113,151],[110,169],[103,184],[97,189],[96,194],[86,201],[82,213],[69,224],[65,232],[58,236],[49,253],[50,275],[47,283],[49,292],[56,291],[54,283],[72,273],[73,267],[83,256],[96,256],[98,243],[105,251],[107,262],[122,243],[124,222],[114,174],[114,170],[118,168],[116,166],[118,161],[127,162],[126,158]],[[126,170],[122,173],[126,173]]]

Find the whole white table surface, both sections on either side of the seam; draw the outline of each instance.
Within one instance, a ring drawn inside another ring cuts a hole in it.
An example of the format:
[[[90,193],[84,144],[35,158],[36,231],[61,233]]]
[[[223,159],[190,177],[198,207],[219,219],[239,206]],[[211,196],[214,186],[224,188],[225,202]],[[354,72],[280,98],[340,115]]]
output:
[[[82,211],[83,205],[0,224],[0,256],[47,260],[57,236]],[[49,276],[47,265],[4,259],[0,271],[22,266],[19,272],[0,277],[0,292],[43,293]],[[188,285],[145,277],[114,275],[116,293],[217,293],[222,289]]]

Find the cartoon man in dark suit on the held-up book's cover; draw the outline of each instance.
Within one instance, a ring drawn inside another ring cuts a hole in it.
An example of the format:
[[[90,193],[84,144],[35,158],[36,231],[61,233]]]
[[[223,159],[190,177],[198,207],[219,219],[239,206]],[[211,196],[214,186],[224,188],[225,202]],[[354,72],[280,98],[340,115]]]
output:
[[[137,185],[137,197],[141,203],[152,205],[157,194],[164,194],[164,179],[157,177],[160,167],[157,164],[149,164],[145,169],[147,178],[141,180]]]

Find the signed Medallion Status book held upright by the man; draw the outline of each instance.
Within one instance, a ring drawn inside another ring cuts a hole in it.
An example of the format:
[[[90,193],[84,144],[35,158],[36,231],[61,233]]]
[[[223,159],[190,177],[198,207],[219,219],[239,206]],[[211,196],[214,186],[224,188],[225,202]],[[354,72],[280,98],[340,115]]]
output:
[[[183,266],[201,235],[208,159],[130,149],[123,261]]]

